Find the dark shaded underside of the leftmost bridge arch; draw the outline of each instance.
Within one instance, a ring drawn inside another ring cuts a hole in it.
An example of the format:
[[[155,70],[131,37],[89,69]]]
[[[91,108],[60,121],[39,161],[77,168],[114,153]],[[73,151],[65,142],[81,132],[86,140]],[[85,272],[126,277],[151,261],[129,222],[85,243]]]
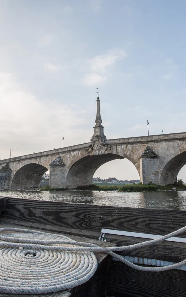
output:
[[[48,169],[37,163],[29,163],[18,169],[12,179],[12,189],[39,187],[41,177]]]

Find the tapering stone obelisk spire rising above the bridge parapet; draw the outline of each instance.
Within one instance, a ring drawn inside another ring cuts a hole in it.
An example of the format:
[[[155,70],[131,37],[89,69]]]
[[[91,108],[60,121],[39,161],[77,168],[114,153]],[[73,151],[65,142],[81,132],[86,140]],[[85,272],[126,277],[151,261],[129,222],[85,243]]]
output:
[[[96,113],[96,125],[93,127],[94,128],[94,135],[92,138],[100,138],[101,142],[104,142],[104,140],[106,139],[106,136],[104,135],[104,127],[101,125],[102,120],[101,120],[101,114],[100,114],[100,100],[99,100],[99,88],[97,88],[97,93],[98,93],[98,97],[97,97],[97,113]]]

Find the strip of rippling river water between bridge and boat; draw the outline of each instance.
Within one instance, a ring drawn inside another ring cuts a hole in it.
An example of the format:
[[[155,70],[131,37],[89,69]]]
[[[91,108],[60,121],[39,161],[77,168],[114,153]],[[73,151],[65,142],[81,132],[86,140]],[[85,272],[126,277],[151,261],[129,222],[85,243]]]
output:
[[[0,191],[0,196],[110,206],[186,209],[186,191],[127,193],[116,191]]]

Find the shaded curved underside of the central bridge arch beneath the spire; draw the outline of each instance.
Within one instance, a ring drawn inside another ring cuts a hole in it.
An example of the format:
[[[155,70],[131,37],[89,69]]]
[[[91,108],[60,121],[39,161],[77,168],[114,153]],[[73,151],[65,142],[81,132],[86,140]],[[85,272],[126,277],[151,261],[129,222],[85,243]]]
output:
[[[75,188],[77,186],[92,184],[92,178],[96,170],[101,165],[115,159],[124,159],[124,157],[109,153],[98,156],[88,155],[77,160],[68,170],[66,187]]]

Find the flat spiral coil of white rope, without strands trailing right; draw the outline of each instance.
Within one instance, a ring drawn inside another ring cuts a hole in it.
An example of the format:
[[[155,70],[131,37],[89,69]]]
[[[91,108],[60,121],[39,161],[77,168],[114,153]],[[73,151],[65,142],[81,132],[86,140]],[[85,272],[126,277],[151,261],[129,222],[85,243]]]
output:
[[[0,293],[9,294],[46,294],[66,290],[87,282],[97,269],[97,260],[93,252],[69,252],[68,247],[77,247],[74,240],[58,234],[38,231],[5,228],[6,231],[18,231],[1,235],[0,243]],[[5,229],[0,229],[0,232]],[[4,239],[8,242],[4,241]],[[44,249],[42,245],[19,244],[8,247],[12,242],[37,243],[68,241],[66,248],[60,251]],[[75,242],[76,243],[76,242]]]

